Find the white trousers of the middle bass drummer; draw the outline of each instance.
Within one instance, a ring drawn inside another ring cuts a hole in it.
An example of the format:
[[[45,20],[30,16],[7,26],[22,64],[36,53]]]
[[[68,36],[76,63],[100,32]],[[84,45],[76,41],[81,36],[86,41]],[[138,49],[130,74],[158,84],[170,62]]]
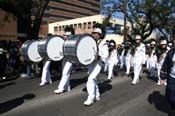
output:
[[[62,71],[62,77],[60,80],[60,83],[58,85],[59,90],[66,90],[70,86],[70,74],[72,71],[72,63],[71,62],[62,62],[63,63],[63,71]]]

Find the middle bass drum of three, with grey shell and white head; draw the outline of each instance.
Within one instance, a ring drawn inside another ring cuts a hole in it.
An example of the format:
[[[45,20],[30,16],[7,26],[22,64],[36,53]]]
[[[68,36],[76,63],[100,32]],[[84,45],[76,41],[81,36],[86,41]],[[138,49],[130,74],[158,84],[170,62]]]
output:
[[[63,59],[64,39],[61,36],[53,35],[40,40],[38,51],[42,58],[53,61]]]

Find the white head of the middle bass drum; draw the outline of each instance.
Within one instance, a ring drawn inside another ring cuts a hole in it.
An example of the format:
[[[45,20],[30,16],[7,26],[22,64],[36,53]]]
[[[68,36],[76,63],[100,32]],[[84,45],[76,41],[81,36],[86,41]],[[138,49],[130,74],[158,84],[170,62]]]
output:
[[[47,55],[53,61],[63,59],[64,40],[59,36],[52,37],[47,44]]]

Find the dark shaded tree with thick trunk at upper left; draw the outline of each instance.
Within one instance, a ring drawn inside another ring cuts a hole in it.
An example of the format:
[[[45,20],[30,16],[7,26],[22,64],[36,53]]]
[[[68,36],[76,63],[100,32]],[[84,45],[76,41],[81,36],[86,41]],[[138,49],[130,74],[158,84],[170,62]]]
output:
[[[48,2],[49,0],[0,0],[0,8],[17,17],[18,32],[27,33],[28,39],[37,39]]]

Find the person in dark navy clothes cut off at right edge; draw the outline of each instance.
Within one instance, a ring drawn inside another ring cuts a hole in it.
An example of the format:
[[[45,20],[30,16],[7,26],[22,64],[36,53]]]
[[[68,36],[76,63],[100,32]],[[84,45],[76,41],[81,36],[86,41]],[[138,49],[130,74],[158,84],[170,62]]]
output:
[[[175,116],[175,48],[172,48],[166,55],[160,72],[161,82],[167,80],[166,97],[171,106],[170,116]]]

